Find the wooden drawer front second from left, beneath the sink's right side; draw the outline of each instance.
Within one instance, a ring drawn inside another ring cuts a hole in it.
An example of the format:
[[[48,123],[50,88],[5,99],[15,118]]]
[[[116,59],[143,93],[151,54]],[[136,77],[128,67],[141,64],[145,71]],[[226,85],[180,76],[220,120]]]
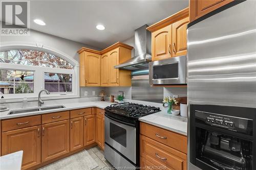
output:
[[[42,114],[42,124],[57,122],[59,120],[69,119],[69,111]]]

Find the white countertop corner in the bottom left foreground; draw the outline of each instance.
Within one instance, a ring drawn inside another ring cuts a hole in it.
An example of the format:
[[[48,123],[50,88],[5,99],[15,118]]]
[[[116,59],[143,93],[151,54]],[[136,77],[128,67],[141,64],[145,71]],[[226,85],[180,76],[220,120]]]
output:
[[[22,156],[23,151],[0,156],[0,169],[20,170],[22,168]]]

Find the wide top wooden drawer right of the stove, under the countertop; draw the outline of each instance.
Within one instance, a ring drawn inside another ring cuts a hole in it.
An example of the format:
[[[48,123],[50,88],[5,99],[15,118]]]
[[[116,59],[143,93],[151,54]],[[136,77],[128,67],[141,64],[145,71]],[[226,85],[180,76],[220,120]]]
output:
[[[140,133],[178,151],[187,153],[187,137],[185,136],[145,123],[140,123]]]

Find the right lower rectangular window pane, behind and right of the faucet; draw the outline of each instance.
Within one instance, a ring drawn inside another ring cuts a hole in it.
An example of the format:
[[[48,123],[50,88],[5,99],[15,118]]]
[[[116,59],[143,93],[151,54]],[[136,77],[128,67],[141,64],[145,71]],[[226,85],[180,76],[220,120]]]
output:
[[[45,89],[50,92],[72,92],[72,75],[45,72]]]

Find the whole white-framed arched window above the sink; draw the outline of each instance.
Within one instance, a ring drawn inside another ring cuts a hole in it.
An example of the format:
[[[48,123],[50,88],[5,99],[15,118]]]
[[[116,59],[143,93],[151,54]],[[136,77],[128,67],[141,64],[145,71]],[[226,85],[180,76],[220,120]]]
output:
[[[36,98],[40,90],[47,89],[50,94],[42,94],[42,97],[79,96],[77,62],[72,64],[69,61],[73,62],[73,59],[67,61],[66,56],[46,51],[16,49],[0,52],[0,94],[7,99]]]

